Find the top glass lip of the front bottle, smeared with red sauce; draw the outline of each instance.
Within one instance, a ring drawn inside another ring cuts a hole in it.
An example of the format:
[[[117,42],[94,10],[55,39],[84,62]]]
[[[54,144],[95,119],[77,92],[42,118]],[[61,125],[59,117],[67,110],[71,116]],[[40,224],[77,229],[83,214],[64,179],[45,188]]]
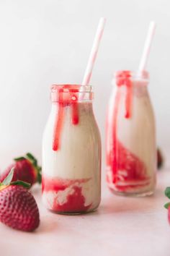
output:
[[[91,85],[53,84],[50,90],[51,92],[59,91],[60,93],[91,93],[93,87]]]

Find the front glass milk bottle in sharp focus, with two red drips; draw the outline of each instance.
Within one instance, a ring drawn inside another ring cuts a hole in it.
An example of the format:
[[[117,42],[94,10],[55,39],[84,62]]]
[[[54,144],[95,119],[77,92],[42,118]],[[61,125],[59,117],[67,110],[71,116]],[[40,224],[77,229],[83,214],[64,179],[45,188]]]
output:
[[[52,85],[52,108],[42,141],[42,201],[56,213],[97,209],[101,140],[90,85]]]

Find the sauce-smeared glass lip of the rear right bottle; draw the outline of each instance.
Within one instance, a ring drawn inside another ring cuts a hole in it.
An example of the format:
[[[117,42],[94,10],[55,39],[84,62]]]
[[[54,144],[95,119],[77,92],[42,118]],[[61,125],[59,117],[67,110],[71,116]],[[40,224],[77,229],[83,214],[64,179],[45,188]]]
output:
[[[143,72],[134,72],[131,70],[118,70],[114,73],[115,78],[128,78],[131,80],[148,80],[149,79],[149,73],[146,70],[143,70]]]

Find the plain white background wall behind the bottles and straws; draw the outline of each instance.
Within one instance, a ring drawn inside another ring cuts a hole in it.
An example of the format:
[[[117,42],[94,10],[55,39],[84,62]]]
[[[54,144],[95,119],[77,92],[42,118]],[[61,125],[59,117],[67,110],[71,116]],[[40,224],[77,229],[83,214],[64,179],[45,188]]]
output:
[[[102,132],[112,73],[137,69],[150,20],[156,36],[148,61],[158,145],[170,127],[169,0],[0,0],[0,167],[27,151],[41,156],[53,83],[81,83],[99,17],[107,17],[91,85]]]

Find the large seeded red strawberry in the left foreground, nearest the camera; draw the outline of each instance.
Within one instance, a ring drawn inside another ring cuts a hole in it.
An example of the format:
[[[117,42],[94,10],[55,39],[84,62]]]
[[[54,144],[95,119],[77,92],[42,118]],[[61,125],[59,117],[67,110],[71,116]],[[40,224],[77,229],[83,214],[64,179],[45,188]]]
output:
[[[0,221],[13,229],[33,231],[40,223],[37,203],[27,189],[30,184],[12,182],[13,174],[14,168],[0,184]]]

